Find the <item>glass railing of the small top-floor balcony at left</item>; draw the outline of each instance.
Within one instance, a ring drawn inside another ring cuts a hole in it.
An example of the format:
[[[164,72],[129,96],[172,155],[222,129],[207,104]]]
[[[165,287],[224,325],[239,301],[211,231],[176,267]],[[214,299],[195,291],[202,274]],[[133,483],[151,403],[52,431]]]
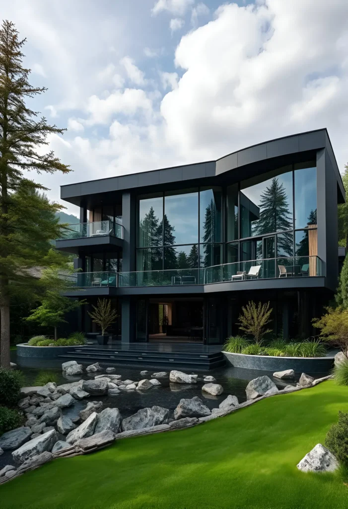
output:
[[[93,221],[87,223],[69,224],[63,235],[57,240],[83,239],[87,237],[102,237],[112,235],[123,239],[123,226],[112,221]]]

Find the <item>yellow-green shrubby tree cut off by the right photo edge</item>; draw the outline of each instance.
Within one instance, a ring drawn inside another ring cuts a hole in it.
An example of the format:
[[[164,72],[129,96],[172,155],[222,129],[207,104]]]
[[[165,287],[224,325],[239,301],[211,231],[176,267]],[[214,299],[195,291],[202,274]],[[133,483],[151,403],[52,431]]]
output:
[[[320,337],[324,341],[342,348],[347,356],[348,352],[348,308],[341,306],[326,307],[326,313],[320,319],[313,320],[314,327],[321,329]]]

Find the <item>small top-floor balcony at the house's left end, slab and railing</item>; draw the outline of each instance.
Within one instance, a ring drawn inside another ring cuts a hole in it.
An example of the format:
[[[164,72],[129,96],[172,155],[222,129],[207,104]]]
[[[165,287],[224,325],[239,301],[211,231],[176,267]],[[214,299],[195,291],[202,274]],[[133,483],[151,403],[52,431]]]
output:
[[[78,254],[82,249],[92,251],[97,247],[104,250],[122,247],[123,226],[112,221],[93,221],[69,224],[60,239],[56,239],[55,246],[62,251]]]

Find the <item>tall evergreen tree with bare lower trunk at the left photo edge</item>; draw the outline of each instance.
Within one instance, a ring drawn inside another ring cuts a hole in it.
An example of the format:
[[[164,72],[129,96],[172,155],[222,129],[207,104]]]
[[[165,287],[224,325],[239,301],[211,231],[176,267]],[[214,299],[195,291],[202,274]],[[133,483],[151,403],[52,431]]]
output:
[[[23,178],[23,171],[68,173],[52,151],[42,153],[48,134],[63,129],[38,119],[26,101],[45,92],[31,87],[30,70],[22,66],[25,42],[10,21],[0,29],[0,312],[1,363],[10,366],[10,300],[14,294],[33,291],[36,278],[29,269],[43,266],[49,240],[58,238],[61,227],[55,213],[62,208],[42,200],[42,185]],[[53,214],[53,217],[52,217]]]

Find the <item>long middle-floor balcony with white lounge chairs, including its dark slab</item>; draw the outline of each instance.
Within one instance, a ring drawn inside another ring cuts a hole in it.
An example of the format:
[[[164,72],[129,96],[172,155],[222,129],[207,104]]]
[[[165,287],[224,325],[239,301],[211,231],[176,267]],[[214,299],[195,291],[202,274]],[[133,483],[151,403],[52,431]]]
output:
[[[79,272],[72,280],[73,287],[93,288],[93,294],[104,294],[110,287],[117,294],[144,293],[144,290],[147,293],[205,293],[323,286],[323,276],[322,260],[318,256],[307,256],[250,260],[200,269]]]

